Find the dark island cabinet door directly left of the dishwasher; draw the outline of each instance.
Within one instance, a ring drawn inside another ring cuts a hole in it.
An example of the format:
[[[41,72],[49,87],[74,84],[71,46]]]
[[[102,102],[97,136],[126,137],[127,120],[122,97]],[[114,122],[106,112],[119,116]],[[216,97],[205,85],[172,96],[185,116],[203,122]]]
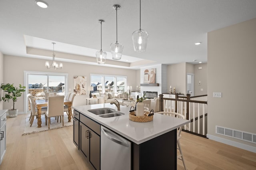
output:
[[[97,170],[100,169],[100,136],[90,130],[90,163]]]

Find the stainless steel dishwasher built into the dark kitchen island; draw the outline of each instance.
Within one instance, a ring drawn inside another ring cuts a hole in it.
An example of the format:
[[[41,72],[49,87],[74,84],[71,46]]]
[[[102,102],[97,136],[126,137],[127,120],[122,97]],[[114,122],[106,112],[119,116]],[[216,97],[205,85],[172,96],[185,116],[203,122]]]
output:
[[[131,169],[131,142],[103,126],[100,133],[100,168]]]

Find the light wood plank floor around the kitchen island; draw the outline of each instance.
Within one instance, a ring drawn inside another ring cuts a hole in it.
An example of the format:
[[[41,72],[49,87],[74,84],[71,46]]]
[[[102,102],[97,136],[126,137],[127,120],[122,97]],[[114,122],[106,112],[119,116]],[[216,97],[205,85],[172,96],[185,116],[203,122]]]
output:
[[[7,119],[7,151],[0,170],[92,169],[73,144],[73,127],[21,136],[26,116]],[[256,170],[256,153],[186,132],[180,142],[188,170]],[[178,170],[183,169],[178,160]]]

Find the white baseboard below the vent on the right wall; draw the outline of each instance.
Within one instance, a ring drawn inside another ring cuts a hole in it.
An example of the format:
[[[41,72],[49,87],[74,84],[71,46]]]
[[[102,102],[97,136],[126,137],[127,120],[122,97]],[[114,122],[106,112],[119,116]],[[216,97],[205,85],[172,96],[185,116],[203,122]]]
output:
[[[235,141],[232,141],[232,140],[228,140],[228,139],[225,139],[225,138],[220,138],[218,136],[214,136],[214,135],[211,135],[211,134],[206,134],[206,137],[211,139],[211,140],[215,140],[217,142],[221,142],[221,143],[224,143],[224,144],[228,144],[228,145],[231,145],[231,146],[235,146],[237,148],[241,148],[241,149],[248,150],[250,152],[256,153],[256,147],[253,147],[253,146],[250,146],[250,145],[247,145],[247,144],[242,144],[242,143],[235,142]]]

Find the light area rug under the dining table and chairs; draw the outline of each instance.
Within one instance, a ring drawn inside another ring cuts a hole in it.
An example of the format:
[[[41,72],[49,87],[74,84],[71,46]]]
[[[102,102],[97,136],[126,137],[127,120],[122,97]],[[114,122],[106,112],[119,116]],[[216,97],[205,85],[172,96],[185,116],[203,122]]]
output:
[[[57,123],[57,120],[55,120],[54,117],[51,117],[50,129],[48,129],[48,121],[47,121],[47,125],[45,125],[44,115],[41,116],[41,121],[42,121],[42,127],[38,128],[37,127],[37,119],[35,117],[34,122],[33,122],[32,126],[30,127],[29,117],[26,117],[26,127],[25,127],[22,135],[43,132],[46,130],[52,130],[52,129],[56,129],[56,128],[62,128],[62,123],[60,123],[60,120]],[[70,126],[73,126],[73,121],[71,119],[71,122],[68,122],[68,115],[66,113],[64,113],[64,127],[70,127]]]

